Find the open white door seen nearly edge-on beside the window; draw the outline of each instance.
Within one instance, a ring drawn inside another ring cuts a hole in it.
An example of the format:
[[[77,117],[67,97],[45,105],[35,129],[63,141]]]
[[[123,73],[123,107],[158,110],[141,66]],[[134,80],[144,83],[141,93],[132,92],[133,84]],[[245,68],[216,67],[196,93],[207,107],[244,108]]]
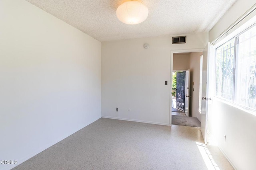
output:
[[[208,125],[209,51],[210,51],[210,43],[207,43],[203,52],[203,70],[202,70],[201,132],[204,138],[204,143],[207,143],[207,125]]]

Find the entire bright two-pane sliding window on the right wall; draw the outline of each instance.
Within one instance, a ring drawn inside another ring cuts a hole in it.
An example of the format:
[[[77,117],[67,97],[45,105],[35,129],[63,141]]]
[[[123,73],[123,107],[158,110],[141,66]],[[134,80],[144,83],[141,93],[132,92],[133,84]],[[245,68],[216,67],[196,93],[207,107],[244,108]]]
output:
[[[256,110],[256,25],[216,48],[216,97]]]

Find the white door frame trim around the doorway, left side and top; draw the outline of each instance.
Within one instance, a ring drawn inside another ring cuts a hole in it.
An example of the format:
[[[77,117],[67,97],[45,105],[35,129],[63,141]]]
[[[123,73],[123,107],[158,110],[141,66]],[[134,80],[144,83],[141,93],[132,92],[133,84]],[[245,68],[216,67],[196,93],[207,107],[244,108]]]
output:
[[[173,72],[173,54],[176,53],[194,53],[203,52],[204,49],[183,49],[183,50],[171,50],[171,67],[170,67],[170,106],[169,106],[169,125],[172,126],[172,72]]]

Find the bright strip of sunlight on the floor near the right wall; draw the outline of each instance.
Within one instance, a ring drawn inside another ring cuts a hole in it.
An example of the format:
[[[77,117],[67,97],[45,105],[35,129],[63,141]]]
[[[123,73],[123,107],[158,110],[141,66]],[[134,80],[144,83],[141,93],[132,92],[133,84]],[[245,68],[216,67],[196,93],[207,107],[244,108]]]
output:
[[[196,145],[204,159],[204,163],[206,164],[208,170],[220,170],[206,145],[199,142],[196,142]]]

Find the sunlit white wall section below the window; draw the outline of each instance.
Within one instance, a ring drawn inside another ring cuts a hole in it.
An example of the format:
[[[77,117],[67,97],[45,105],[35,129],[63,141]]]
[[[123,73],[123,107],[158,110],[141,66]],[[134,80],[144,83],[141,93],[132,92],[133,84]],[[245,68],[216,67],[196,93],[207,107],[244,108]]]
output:
[[[212,100],[211,108],[213,114],[209,130],[216,137],[220,149],[236,169],[255,170],[256,116],[216,98]]]

